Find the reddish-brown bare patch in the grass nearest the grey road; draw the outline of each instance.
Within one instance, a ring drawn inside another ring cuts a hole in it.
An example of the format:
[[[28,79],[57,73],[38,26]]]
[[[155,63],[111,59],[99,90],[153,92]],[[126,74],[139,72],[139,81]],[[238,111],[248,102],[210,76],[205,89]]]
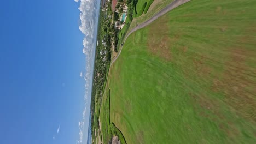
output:
[[[159,18],[160,22],[154,22],[149,28],[147,46],[151,53],[158,55],[165,61],[171,61],[171,43],[178,38],[171,39],[169,35],[168,16]]]

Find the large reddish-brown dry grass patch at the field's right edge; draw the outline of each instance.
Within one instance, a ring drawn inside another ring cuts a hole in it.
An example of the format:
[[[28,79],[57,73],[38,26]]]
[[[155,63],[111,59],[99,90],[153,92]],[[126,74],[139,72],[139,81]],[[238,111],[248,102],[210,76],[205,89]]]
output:
[[[227,67],[219,88],[225,93],[226,103],[243,117],[256,122],[256,71],[248,73],[250,68],[246,64],[246,58],[249,53],[240,48],[230,52],[231,61],[226,63]]]

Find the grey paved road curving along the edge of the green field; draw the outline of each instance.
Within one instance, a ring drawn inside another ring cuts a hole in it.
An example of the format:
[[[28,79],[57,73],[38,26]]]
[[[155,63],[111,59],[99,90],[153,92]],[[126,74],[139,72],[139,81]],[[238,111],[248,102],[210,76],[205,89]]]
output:
[[[174,0],[172,3],[168,4],[164,9],[160,10],[158,13],[156,13],[153,17],[151,17],[150,19],[148,19],[147,21],[141,23],[140,25],[136,26],[135,28],[133,28],[128,34],[125,35],[124,38],[124,42],[126,41],[126,39],[129,37],[129,35],[135,31],[137,31],[138,29],[141,29],[143,27],[148,26],[150,23],[152,23],[153,21],[155,21],[156,19],[158,19],[160,16],[168,13],[169,11],[171,11],[172,9],[178,7],[179,5],[182,5],[184,3],[189,2],[190,0]],[[120,50],[118,51],[118,54],[115,58],[112,59],[110,66],[115,62],[115,60],[117,60],[117,58],[119,57],[121,51],[123,49],[123,46],[120,46]]]

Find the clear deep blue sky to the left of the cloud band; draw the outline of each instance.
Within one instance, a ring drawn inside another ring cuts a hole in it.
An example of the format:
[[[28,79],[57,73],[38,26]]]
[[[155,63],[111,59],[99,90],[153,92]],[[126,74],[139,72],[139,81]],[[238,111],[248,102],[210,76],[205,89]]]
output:
[[[79,5],[1,1],[0,143],[78,139],[85,85]]]

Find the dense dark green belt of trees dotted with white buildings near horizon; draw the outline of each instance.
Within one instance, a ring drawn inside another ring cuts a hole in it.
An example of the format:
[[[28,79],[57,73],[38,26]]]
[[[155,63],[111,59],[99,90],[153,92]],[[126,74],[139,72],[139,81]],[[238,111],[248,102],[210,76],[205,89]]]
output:
[[[104,22],[103,22],[104,21]],[[111,27],[110,19],[104,13],[100,13],[99,29],[96,46],[96,57],[94,66],[94,80],[92,84],[92,97],[91,97],[91,127],[92,134],[95,132],[93,129],[94,124],[98,127],[98,113],[95,114],[96,101],[101,101],[102,93],[104,90],[104,83],[107,79],[109,65],[111,61],[111,38],[114,28]]]

